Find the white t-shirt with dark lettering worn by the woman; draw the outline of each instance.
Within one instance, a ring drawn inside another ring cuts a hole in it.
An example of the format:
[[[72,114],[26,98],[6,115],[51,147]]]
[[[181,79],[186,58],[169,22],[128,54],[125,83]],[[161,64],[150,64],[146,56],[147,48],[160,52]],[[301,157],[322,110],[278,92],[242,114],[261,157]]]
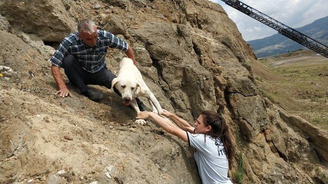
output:
[[[197,149],[194,157],[202,183],[232,184],[228,177],[228,158],[220,138],[189,132],[187,136],[189,145]]]

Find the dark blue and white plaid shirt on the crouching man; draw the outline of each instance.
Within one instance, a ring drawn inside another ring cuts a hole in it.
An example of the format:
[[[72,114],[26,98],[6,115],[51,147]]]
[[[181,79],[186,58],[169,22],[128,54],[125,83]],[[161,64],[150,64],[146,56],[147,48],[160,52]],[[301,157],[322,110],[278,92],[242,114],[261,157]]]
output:
[[[77,32],[70,34],[60,43],[49,61],[55,66],[62,67],[64,57],[67,54],[71,54],[84,70],[95,73],[106,66],[105,56],[107,48],[116,48],[122,51],[128,50],[128,43],[119,39],[111,32],[105,30],[97,30],[97,32],[98,39],[92,48],[78,37]]]

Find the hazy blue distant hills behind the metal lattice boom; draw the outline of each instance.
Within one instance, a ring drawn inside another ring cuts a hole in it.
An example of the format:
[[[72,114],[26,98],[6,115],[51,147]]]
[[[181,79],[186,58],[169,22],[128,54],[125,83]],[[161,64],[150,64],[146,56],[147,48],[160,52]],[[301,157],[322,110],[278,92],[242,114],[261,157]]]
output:
[[[311,24],[297,28],[296,30],[323,44],[328,44],[328,16],[317,19]],[[305,49],[303,45],[279,33],[248,42],[252,45],[258,58]]]

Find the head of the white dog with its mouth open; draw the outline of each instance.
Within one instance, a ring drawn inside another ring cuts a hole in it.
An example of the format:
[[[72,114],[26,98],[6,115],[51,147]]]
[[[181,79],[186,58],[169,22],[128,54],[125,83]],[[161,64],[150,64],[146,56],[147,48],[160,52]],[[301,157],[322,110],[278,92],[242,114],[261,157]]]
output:
[[[123,104],[126,106],[130,105],[130,102],[132,98],[134,98],[136,90],[139,89],[140,91],[143,91],[137,80],[127,80],[116,77],[112,80],[112,88],[114,86],[122,94]]]

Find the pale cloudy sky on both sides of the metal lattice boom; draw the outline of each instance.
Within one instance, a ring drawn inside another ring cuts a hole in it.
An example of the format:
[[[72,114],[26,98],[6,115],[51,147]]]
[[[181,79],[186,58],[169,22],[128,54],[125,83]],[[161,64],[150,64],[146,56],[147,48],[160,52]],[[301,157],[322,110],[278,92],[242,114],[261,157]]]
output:
[[[276,34],[277,31],[226,5],[220,0],[210,0],[220,4],[228,16],[236,23],[244,40],[254,40]],[[239,0],[240,2],[267,14],[283,24],[299,28],[316,19],[328,15],[328,0]]]

